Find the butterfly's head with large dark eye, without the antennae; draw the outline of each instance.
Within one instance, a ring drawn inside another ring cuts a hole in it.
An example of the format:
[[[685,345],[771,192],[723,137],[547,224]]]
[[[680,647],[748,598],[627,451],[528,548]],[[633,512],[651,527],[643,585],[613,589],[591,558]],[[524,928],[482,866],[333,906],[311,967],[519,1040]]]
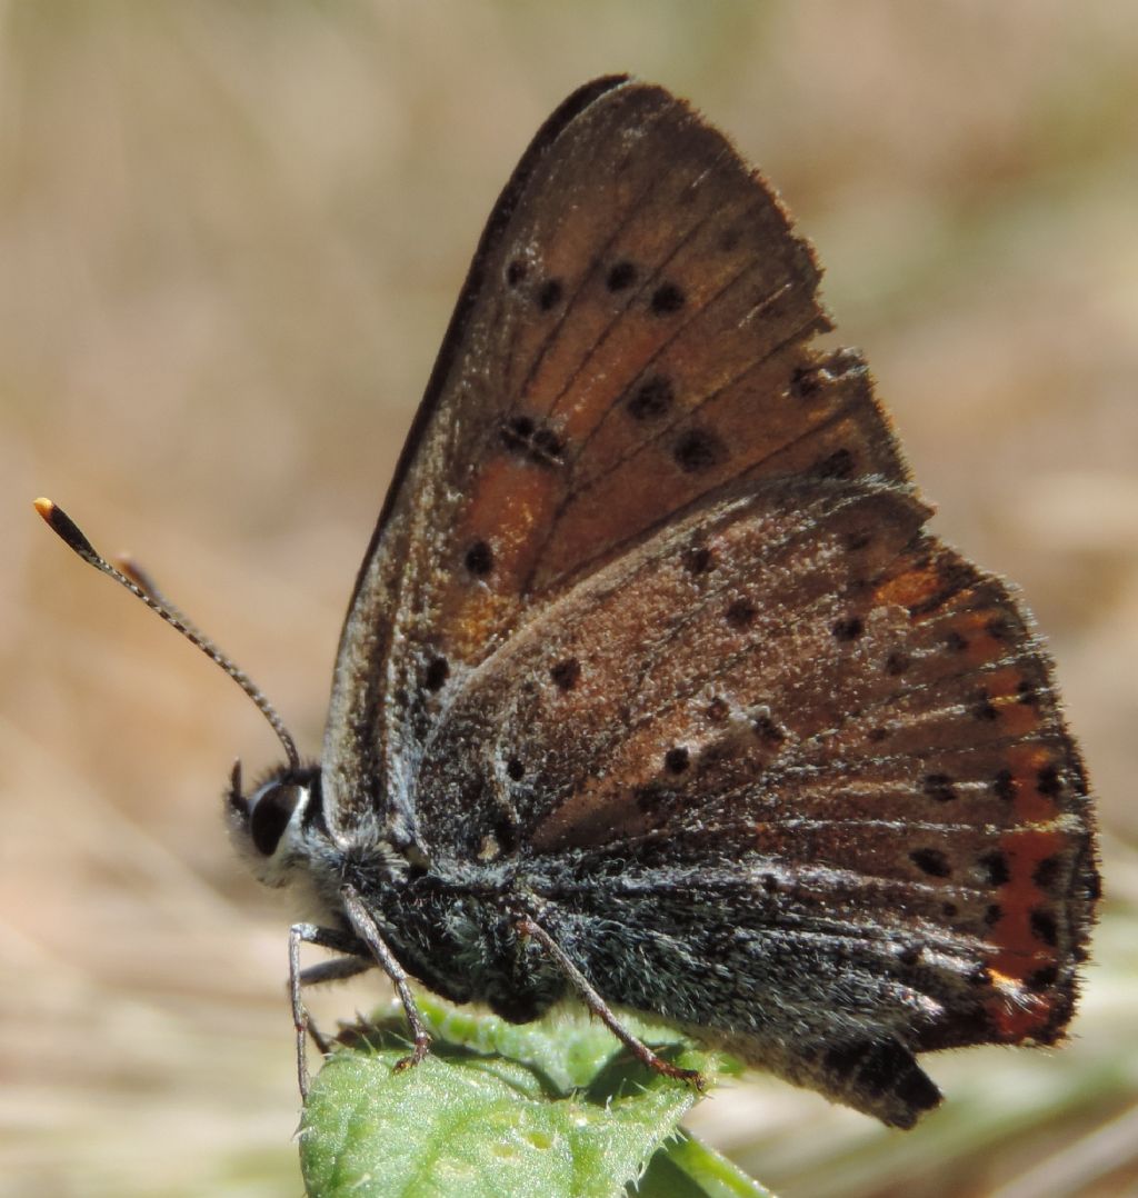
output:
[[[243,794],[236,762],[225,799],[234,843],[266,885],[287,885],[331,849],[316,766],[280,766]]]

